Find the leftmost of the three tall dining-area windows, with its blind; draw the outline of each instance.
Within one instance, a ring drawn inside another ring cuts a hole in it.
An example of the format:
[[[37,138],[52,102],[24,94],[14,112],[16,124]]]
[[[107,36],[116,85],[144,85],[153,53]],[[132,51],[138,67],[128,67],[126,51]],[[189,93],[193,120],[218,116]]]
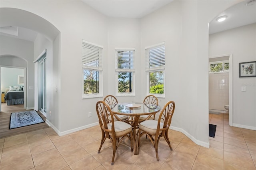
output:
[[[83,98],[102,97],[102,46],[82,40]]]

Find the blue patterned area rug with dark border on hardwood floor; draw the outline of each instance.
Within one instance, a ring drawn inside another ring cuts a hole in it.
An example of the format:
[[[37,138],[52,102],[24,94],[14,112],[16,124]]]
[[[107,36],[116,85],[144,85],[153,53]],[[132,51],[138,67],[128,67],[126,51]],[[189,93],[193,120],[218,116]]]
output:
[[[13,112],[10,118],[10,129],[43,123],[44,120],[35,110]]]

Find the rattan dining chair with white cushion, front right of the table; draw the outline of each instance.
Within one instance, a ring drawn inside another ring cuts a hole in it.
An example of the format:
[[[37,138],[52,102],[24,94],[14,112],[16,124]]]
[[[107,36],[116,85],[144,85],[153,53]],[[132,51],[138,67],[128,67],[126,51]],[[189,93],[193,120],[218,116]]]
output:
[[[170,150],[172,146],[168,137],[168,130],[172,122],[172,116],[174,114],[175,103],[173,101],[167,102],[162,108],[158,121],[157,120],[145,120],[141,122],[138,130],[138,146],[140,145],[140,138],[146,134],[153,144],[156,151],[156,160],[159,161],[158,157],[158,143],[160,138],[163,136],[168,143]],[[154,137],[153,137],[154,136]]]

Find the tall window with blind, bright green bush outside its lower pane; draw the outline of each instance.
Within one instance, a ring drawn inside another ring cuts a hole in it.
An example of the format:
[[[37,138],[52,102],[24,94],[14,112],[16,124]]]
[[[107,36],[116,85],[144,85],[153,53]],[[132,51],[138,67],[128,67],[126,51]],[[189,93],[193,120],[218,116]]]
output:
[[[154,94],[157,97],[165,97],[165,42],[146,47],[145,52],[148,94]]]

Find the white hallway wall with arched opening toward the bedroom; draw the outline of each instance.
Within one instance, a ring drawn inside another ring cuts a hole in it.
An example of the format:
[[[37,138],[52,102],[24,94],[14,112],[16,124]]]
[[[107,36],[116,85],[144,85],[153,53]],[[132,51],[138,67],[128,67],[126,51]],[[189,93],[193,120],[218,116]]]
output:
[[[1,35],[0,44],[0,56],[3,56],[1,57],[1,65],[8,64],[8,66],[23,67],[24,62],[20,63],[20,59],[17,59],[17,57],[26,60],[26,103],[27,108],[34,108],[34,89],[28,89],[28,86],[34,86],[33,42]],[[12,59],[7,60],[6,56],[16,57],[11,57]],[[2,58],[4,58],[4,60],[2,60]]]

